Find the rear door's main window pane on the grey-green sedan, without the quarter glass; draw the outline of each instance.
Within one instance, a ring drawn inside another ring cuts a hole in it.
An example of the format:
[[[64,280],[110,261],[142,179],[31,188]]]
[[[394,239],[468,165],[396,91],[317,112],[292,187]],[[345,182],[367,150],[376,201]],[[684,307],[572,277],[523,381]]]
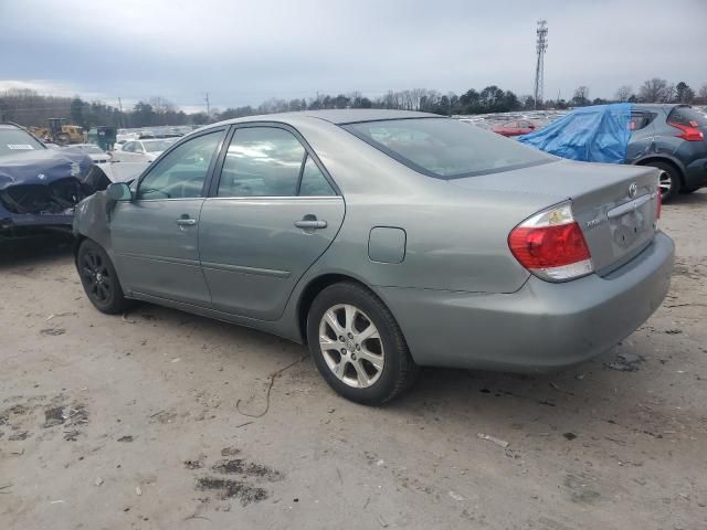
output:
[[[292,132],[276,127],[236,129],[217,197],[291,197],[306,151]]]

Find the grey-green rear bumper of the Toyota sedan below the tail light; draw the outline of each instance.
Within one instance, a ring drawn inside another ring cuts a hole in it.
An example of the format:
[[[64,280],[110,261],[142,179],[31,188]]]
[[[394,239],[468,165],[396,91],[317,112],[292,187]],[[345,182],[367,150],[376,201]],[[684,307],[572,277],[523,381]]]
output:
[[[535,276],[517,292],[483,295],[378,288],[422,365],[551,370],[600,354],[635,331],[669,287],[675,247],[662,232],[609,276],[564,284]]]

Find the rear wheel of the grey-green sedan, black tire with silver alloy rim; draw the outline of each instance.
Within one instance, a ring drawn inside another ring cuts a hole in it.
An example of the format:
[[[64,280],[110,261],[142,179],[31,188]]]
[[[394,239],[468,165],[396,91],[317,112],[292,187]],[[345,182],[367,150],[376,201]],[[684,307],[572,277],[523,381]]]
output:
[[[317,295],[307,316],[307,341],[329,386],[365,405],[382,405],[398,396],[419,372],[390,310],[352,282],[330,285]]]

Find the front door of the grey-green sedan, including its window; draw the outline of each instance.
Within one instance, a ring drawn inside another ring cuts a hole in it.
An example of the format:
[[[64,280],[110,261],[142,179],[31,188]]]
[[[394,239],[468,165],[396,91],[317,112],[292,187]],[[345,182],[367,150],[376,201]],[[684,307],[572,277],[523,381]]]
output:
[[[223,129],[186,140],[140,178],[110,215],[116,268],[129,292],[208,306],[199,264],[205,182]]]

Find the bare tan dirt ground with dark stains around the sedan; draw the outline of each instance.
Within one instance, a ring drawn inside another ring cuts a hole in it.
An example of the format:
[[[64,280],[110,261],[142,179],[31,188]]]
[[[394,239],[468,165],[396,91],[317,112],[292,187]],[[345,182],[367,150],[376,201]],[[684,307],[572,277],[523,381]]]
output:
[[[706,225],[707,191],[664,208],[669,296],[614,350],[546,375],[423,370],[382,409],[334,394],[300,346],[99,314],[67,240],[2,246],[0,528],[707,528]]]

